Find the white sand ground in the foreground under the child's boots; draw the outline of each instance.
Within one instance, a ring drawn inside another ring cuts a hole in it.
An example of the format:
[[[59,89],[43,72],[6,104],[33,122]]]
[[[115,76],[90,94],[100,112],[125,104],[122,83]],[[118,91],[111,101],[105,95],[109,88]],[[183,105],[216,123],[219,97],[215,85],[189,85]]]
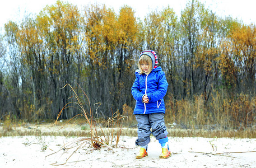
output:
[[[86,145],[63,164],[75,148],[45,157],[62,148],[64,143],[76,138],[41,137],[48,144],[41,150],[40,137],[0,138],[0,167],[256,167],[256,139],[238,138],[178,138],[170,137],[169,146],[173,156],[160,159],[161,147],[155,138],[148,144],[148,156],[136,159],[136,137],[122,136],[117,148],[101,147],[100,150]],[[210,143],[211,142],[211,143]],[[193,152],[189,152],[193,151]],[[220,155],[204,154],[218,152],[245,152]]]

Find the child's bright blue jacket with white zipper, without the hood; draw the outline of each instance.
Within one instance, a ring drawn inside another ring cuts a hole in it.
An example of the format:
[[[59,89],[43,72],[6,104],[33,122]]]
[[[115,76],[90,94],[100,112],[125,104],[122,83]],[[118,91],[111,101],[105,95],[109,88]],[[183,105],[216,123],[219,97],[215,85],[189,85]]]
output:
[[[136,79],[132,86],[132,95],[136,100],[133,114],[165,113],[164,96],[168,83],[161,67],[153,69],[148,75],[135,72]],[[142,102],[147,94],[148,103]]]

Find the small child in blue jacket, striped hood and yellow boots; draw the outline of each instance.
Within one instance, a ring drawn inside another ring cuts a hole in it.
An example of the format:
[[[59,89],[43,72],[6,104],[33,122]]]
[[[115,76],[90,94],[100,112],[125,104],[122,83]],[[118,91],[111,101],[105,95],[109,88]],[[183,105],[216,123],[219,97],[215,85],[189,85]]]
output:
[[[147,156],[147,144],[150,134],[159,140],[162,147],[160,158],[169,158],[171,152],[167,144],[165,127],[164,96],[168,83],[161,67],[157,67],[157,55],[153,50],[145,50],[139,55],[136,79],[132,86],[132,95],[136,100],[133,114],[138,122],[136,146],[141,146],[136,158]]]

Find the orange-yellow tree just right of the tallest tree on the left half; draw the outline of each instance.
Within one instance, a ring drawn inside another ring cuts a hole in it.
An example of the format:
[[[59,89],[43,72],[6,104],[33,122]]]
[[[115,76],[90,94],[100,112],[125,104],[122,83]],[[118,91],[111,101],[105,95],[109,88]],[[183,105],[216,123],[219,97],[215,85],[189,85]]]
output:
[[[116,45],[116,18],[112,10],[97,4],[87,6],[82,21],[85,40],[84,67],[87,73],[86,91],[92,104],[101,102],[103,105],[98,112],[100,115],[111,113],[112,100],[109,99],[111,89],[111,61]],[[101,89],[99,89],[101,88]]]

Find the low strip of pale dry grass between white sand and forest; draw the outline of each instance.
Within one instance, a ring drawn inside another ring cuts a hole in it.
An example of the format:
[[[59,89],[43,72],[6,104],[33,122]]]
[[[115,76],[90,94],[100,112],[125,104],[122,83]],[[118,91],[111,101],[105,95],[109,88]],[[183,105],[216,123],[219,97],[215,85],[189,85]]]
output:
[[[53,124],[30,124],[29,126],[13,126],[12,130],[4,130],[0,127],[0,137],[7,136],[65,136],[65,137],[90,137],[90,129],[81,129],[83,125],[67,124],[66,129],[60,129],[60,124],[55,128]],[[54,129],[48,129],[53,127]],[[32,129],[28,129],[32,128]],[[109,129],[103,127],[103,129]],[[241,130],[207,130],[207,129],[181,129],[168,128],[169,137],[204,137],[204,138],[256,138],[255,129],[241,129]],[[117,134],[117,129],[114,129],[113,134]],[[104,136],[99,132],[98,136]],[[137,128],[123,127],[122,136],[137,137]],[[105,140],[104,140],[105,141]],[[110,138],[109,138],[110,141]],[[110,143],[110,142],[109,142]]]

